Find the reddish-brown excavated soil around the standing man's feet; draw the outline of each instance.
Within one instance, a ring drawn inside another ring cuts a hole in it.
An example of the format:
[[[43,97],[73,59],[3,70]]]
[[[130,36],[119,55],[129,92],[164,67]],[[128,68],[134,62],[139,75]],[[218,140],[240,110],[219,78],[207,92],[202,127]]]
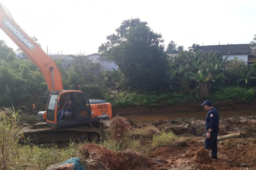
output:
[[[173,131],[178,138],[187,140],[171,147],[151,148],[133,152],[115,152],[95,144],[84,144],[80,152],[85,160],[97,160],[109,170],[256,170],[256,116],[221,119],[219,136],[242,133],[218,144],[218,160],[211,159],[210,151],[197,141],[205,137],[204,120],[161,120],[149,125],[135,126],[130,130],[138,140],[138,148],[152,143],[161,131]],[[138,133],[138,131],[140,133]]]

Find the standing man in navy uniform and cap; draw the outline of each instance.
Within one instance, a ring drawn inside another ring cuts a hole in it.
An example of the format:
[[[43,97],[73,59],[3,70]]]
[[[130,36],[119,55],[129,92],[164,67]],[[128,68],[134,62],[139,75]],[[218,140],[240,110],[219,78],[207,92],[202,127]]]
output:
[[[212,103],[210,100],[206,100],[201,105],[204,105],[205,110],[208,111],[205,121],[205,128],[207,132],[204,140],[204,147],[207,150],[212,150],[212,159],[218,159],[217,136],[219,133],[219,112],[217,109],[212,107]]]

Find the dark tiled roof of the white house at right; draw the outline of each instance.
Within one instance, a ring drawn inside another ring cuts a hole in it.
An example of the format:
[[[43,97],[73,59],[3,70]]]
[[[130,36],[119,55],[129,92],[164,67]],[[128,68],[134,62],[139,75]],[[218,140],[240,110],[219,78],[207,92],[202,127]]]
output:
[[[249,44],[231,44],[231,45],[208,45],[197,46],[196,52],[216,52],[216,54],[250,54],[251,48]]]

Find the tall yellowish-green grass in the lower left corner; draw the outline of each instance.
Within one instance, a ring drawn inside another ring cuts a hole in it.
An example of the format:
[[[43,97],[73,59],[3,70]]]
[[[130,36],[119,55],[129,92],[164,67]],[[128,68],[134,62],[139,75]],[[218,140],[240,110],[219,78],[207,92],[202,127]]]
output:
[[[80,157],[79,144],[70,142],[68,146],[57,144],[20,145],[23,126],[20,111],[14,108],[0,109],[0,169],[46,169],[72,157]]]

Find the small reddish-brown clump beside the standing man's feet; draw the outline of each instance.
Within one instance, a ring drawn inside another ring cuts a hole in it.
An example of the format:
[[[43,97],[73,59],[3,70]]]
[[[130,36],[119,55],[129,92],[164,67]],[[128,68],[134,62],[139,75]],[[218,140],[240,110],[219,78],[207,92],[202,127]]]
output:
[[[205,148],[198,149],[193,159],[199,164],[207,164],[212,162],[212,158],[209,156],[209,150]]]

